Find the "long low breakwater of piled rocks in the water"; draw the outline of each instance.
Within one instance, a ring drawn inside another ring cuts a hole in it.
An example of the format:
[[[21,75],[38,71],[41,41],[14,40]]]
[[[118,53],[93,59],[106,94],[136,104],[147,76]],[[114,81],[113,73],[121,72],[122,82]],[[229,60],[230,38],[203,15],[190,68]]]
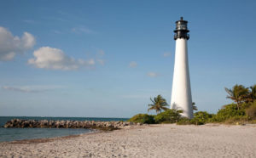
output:
[[[7,121],[3,127],[39,127],[39,128],[90,128],[101,130],[114,130],[126,126],[141,126],[142,123],[133,123],[129,121],[48,121],[48,120],[20,120],[13,119]]]

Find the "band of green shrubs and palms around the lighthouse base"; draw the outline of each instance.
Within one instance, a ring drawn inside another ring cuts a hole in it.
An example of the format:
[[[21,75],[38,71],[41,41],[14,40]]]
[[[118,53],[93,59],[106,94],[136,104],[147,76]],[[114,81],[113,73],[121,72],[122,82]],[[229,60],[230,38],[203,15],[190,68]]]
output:
[[[153,104],[148,104],[149,110],[155,110],[157,115],[138,114],[129,121],[142,123],[177,123],[178,125],[203,125],[210,122],[223,122],[229,124],[256,123],[256,85],[244,87],[235,85],[232,88],[226,88],[227,99],[234,101],[232,104],[224,105],[217,114],[209,114],[207,111],[198,111],[194,113],[193,119],[182,117],[182,110],[170,110],[166,106],[166,99],[158,95],[150,99]],[[197,110],[193,102],[193,109]],[[164,110],[161,112],[161,110]]]

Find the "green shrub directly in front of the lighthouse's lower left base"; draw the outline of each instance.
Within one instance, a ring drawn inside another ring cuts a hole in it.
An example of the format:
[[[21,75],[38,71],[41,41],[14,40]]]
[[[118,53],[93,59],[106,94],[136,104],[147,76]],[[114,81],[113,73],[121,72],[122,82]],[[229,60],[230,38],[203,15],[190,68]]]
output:
[[[175,123],[181,119],[180,113],[182,110],[166,110],[154,116],[154,121],[157,123]]]

